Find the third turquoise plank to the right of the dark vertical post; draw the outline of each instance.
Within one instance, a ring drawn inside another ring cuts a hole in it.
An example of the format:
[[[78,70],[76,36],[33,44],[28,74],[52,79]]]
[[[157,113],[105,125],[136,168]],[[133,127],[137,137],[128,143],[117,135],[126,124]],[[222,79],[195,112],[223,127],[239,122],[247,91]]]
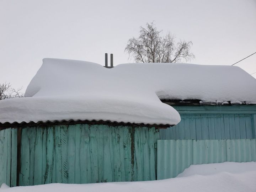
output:
[[[43,145],[43,128],[40,126],[36,127],[36,144],[34,154],[34,185],[42,184],[42,145]]]

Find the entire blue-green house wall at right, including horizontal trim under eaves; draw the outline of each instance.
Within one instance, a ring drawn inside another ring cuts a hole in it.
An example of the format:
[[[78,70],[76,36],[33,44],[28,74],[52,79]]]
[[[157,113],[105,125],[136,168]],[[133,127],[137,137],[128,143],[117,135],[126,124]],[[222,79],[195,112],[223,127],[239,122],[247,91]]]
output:
[[[160,130],[160,139],[253,139],[256,105],[174,106],[177,126]]]

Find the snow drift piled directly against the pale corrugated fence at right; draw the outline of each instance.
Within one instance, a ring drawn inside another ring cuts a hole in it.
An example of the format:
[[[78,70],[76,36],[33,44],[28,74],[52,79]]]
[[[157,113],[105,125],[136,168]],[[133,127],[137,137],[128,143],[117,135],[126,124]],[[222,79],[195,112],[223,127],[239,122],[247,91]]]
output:
[[[246,171],[256,171],[256,162],[222,162],[202,165],[190,165],[177,177],[191,175],[213,175],[220,172],[238,174]]]

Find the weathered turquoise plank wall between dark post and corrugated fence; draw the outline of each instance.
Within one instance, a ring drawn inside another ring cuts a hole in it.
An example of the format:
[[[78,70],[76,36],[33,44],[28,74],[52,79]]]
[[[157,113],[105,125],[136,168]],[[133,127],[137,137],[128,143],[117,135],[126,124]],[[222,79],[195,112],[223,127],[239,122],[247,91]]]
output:
[[[157,134],[88,124],[23,128],[19,185],[155,180]]]

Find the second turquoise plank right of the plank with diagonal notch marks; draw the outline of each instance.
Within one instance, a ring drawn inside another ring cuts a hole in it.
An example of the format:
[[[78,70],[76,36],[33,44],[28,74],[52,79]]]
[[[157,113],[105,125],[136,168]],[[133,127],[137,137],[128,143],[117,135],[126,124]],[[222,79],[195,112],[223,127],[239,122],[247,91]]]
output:
[[[81,124],[75,126],[75,183],[81,183],[80,167],[80,142],[81,142]]]

